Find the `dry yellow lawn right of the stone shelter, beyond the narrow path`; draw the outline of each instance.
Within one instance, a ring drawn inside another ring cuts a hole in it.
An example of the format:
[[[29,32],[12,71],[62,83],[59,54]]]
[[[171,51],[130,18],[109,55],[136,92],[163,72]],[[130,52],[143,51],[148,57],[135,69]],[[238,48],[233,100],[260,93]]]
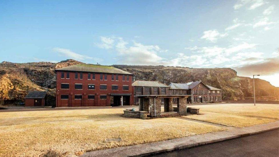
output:
[[[186,118],[234,127],[246,127],[278,120],[278,104],[214,104],[191,106],[200,114]]]

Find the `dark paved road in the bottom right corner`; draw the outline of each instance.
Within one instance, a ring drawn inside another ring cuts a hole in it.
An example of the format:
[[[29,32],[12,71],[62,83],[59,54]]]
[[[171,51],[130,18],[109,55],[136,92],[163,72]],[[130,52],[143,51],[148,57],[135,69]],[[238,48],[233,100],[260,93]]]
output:
[[[177,150],[173,152],[156,154],[155,156],[167,157],[167,156],[198,156],[198,157],[223,157],[223,156],[279,156],[279,130],[271,130],[259,134],[250,136],[244,136],[241,138],[235,138],[232,140],[226,140],[213,144],[207,144],[203,146],[188,148],[184,150]]]

